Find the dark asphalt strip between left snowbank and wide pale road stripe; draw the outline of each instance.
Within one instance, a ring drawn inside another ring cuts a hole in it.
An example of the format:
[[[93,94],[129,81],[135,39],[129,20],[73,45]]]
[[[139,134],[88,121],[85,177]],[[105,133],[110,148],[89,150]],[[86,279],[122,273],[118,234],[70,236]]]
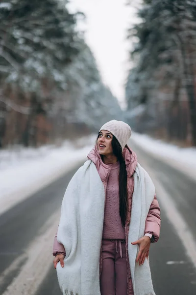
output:
[[[76,169],[0,215],[0,276],[18,256],[25,254],[29,244],[39,235],[40,228],[61,206],[65,189],[80,166],[81,163]],[[10,275],[6,275],[6,280],[0,282],[0,295],[20,272],[23,264],[25,257]]]

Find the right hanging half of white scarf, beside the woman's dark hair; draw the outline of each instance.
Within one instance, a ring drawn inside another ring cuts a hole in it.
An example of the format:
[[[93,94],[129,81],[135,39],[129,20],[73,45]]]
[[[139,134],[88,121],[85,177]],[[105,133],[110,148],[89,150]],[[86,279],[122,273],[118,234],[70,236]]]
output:
[[[131,242],[144,236],[145,224],[150,205],[155,194],[154,184],[147,172],[137,164],[134,177],[134,191],[132,197],[131,221],[128,236],[128,254],[131,269],[134,295],[155,295],[149,267],[145,259],[143,265],[136,263],[139,246]]]

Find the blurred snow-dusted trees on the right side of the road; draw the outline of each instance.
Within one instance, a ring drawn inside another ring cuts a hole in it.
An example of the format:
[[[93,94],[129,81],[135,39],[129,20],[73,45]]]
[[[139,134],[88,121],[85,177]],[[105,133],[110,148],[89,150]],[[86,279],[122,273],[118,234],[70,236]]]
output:
[[[196,0],[143,0],[138,17],[127,118],[136,131],[196,146]]]

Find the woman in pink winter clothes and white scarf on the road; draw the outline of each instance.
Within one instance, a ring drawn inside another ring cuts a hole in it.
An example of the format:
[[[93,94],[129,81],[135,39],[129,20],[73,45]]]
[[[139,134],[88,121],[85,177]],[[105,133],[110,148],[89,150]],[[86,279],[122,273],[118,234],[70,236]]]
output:
[[[68,185],[53,247],[65,295],[155,294],[147,259],[160,208],[130,136],[123,121],[105,123]]]

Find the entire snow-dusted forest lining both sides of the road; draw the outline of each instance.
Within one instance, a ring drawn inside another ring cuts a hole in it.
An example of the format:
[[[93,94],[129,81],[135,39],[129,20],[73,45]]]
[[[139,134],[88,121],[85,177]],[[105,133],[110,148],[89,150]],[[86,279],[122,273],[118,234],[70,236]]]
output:
[[[126,110],[77,28],[83,18],[66,0],[0,2],[0,148],[56,144],[111,119],[196,146],[196,0],[142,1],[127,28]]]

